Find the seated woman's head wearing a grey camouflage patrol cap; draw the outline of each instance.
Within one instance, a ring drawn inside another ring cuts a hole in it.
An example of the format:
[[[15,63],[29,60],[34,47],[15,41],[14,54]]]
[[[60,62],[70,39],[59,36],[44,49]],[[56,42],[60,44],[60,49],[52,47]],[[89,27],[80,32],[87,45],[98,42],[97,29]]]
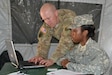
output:
[[[89,37],[94,36],[94,22],[91,14],[84,14],[76,16],[73,24],[69,27],[71,29],[71,37],[75,43],[83,43]]]

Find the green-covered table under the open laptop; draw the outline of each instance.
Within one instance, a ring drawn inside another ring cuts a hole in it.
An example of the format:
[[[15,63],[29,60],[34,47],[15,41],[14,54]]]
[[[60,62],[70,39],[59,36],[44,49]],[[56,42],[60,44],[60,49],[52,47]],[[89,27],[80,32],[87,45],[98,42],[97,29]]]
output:
[[[25,74],[29,74],[29,75],[46,75],[46,73],[48,72],[47,69],[48,68],[57,68],[57,69],[61,69],[61,66],[58,66],[56,64],[50,66],[50,67],[45,67],[45,68],[35,68],[35,69],[17,69],[15,68],[10,62],[9,63],[5,63],[5,65],[3,66],[3,68],[0,71],[0,75],[7,75],[9,73],[12,72],[17,72],[17,71],[21,71]]]

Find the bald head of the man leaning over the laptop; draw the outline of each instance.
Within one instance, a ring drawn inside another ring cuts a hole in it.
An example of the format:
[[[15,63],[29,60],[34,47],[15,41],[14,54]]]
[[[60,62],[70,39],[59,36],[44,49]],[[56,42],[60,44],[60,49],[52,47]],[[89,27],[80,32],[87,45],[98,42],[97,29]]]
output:
[[[50,27],[55,27],[58,24],[58,12],[53,4],[45,3],[40,9],[42,20]]]

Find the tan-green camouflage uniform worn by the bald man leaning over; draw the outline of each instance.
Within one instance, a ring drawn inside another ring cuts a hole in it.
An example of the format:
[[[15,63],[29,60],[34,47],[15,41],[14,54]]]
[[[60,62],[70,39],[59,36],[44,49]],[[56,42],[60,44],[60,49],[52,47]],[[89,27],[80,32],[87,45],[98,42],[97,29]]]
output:
[[[48,57],[52,37],[55,37],[59,40],[59,44],[50,58],[54,62],[59,57],[64,55],[67,50],[71,50],[74,44],[70,37],[70,30],[67,28],[69,25],[71,25],[73,17],[75,16],[76,14],[71,10],[60,9],[58,10],[59,23],[56,25],[55,28],[52,29],[45,23],[41,26],[38,33],[39,42],[37,55],[44,58]]]

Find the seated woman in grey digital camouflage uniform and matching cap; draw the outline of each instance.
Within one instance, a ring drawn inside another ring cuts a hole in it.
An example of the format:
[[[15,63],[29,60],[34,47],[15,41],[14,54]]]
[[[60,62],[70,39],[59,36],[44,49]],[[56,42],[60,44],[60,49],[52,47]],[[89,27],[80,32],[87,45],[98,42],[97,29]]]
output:
[[[69,28],[72,29],[72,40],[79,44],[74,50],[59,58],[58,65],[75,72],[94,75],[104,74],[108,70],[110,64],[108,55],[91,39],[95,30],[93,24],[91,14],[75,17],[74,24]]]

